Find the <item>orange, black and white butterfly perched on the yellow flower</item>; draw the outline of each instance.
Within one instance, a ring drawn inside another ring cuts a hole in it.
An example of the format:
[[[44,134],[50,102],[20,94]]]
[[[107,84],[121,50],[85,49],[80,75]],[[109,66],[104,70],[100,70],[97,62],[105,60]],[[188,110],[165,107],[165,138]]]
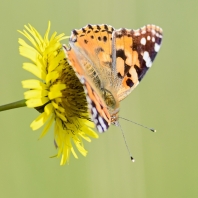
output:
[[[69,64],[83,84],[88,109],[98,132],[118,125],[120,101],[139,84],[159,52],[162,29],[114,29],[87,25],[71,32],[63,45]]]

